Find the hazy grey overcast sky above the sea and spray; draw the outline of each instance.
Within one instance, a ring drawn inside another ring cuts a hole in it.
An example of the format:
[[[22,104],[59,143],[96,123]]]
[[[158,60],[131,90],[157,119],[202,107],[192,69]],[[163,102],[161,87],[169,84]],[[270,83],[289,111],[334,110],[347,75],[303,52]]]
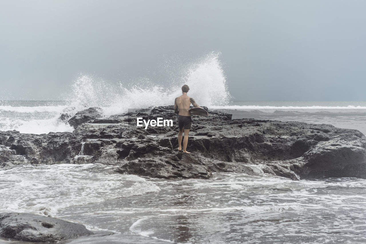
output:
[[[189,62],[212,51],[221,52],[236,100],[366,100],[364,0],[0,6],[0,100],[55,99],[79,73],[157,79],[167,58]]]

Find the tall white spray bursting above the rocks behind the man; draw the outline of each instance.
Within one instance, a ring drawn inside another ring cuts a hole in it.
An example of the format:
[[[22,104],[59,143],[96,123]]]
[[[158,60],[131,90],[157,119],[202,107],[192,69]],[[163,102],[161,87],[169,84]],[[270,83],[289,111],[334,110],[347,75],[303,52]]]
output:
[[[190,86],[188,95],[199,105],[228,105],[231,96],[219,53],[210,53],[183,69],[184,76],[169,84],[143,78],[116,85],[95,75],[81,75],[64,99],[75,110],[101,107],[104,115],[112,115],[127,112],[129,108],[172,105],[175,97],[182,94],[181,86],[187,84]]]

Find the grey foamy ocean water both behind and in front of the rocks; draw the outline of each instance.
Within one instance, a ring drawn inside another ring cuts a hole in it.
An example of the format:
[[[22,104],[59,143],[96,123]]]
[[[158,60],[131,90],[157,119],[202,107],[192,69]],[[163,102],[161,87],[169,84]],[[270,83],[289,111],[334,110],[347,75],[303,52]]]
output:
[[[2,101],[0,130],[71,132],[57,118],[82,106],[74,107],[67,101]],[[229,112],[233,119],[326,123],[366,133],[366,102],[232,101],[208,107]],[[103,108],[106,115],[116,110]],[[363,179],[291,181],[252,165],[259,176],[216,173],[209,180],[162,180],[114,174],[113,167],[57,164],[0,170],[0,212],[48,215],[91,230],[169,243],[366,242]]]

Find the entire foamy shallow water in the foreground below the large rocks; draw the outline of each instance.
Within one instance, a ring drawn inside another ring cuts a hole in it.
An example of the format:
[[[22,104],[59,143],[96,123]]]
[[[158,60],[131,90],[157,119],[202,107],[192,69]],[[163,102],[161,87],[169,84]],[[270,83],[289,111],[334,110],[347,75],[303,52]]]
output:
[[[61,164],[1,171],[1,211],[45,208],[92,230],[177,243],[366,241],[366,180],[236,173],[161,180],[112,170]]]

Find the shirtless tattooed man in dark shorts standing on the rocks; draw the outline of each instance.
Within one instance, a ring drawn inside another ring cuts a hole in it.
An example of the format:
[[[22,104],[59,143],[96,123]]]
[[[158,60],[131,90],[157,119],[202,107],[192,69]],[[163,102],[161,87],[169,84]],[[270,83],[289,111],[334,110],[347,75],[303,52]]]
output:
[[[182,150],[182,135],[184,130],[184,141],[183,141],[183,152],[190,154],[187,152],[187,144],[188,144],[188,133],[191,129],[191,112],[188,111],[189,106],[192,104],[195,108],[200,108],[198,104],[194,101],[192,97],[187,96],[187,92],[189,90],[189,86],[182,86],[182,96],[179,96],[174,101],[174,112],[178,114],[178,151]]]

